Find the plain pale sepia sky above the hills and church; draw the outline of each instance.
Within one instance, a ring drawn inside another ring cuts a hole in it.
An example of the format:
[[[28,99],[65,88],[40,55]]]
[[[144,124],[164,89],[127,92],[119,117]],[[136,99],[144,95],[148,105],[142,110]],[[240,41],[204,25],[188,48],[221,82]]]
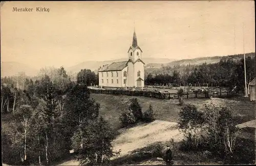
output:
[[[6,2],[0,12],[1,62],[36,68],[128,58],[134,29],[148,58],[255,52],[254,1]]]

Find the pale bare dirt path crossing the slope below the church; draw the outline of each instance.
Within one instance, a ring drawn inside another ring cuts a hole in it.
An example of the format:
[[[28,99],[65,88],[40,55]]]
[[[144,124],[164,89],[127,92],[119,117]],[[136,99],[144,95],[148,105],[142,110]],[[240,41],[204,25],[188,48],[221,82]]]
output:
[[[123,156],[130,151],[146,147],[155,142],[169,141],[170,139],[180,141],[182,138],[183,134],[179,132],[177,123],[156,120],[149,124],[122,130],[117,139],[113,141],[113,146],[114,150],[118,151],[120,149],[120,156]],[[78,165],[78,162],[70,160],[59,165]]]

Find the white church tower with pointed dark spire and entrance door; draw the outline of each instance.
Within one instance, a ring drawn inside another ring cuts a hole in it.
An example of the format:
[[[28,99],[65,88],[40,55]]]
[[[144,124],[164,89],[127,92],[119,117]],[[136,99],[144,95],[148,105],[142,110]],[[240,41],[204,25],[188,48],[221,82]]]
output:
[[[134,30],[133,44],[128,50],[127,61],[127,86],[144,87],[144,62],[141,58],[142,50],[138,46],[137,36]]]

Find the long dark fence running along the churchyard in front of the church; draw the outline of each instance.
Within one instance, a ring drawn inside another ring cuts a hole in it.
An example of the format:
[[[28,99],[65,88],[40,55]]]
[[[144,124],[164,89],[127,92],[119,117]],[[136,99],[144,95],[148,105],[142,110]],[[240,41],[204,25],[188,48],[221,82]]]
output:
[[[152,92],[152,91],[130,91],[130,90],[108,90],[108,89],[90,89],[91,93],[96,94],[114,94],[127,96],[145,96],[159,99],[178,99],[177,93],[171,92]],[[188,92],[183,94],[184,98],[209,98],[208,92],[194,93]]]

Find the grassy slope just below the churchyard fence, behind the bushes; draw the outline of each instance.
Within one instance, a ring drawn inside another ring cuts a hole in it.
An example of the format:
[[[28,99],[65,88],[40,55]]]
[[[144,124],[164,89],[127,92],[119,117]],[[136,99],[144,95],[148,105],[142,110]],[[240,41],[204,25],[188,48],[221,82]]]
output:
[[[142,112],[152,104],[155,119],[177,122],[179,117],[178,100],[162,100],[156,98],[148,98],[143,96],[125,96],[125,95],[109,95],[109,94],[91,94],[91,97],[100,103],[100,115],[108,120],[114,128],[119,128],[119,116],[123,110],[128,109],[131,98],[137,98],[142,107]],[[230,107],[233,117],[237,124],[254,120],[255,102],[250,102],[248,99],[232,98],[232,99],[185,99],[184,103],[195,104],[199,109],[204,107],[204,104],[214,102],[216,104]]]

